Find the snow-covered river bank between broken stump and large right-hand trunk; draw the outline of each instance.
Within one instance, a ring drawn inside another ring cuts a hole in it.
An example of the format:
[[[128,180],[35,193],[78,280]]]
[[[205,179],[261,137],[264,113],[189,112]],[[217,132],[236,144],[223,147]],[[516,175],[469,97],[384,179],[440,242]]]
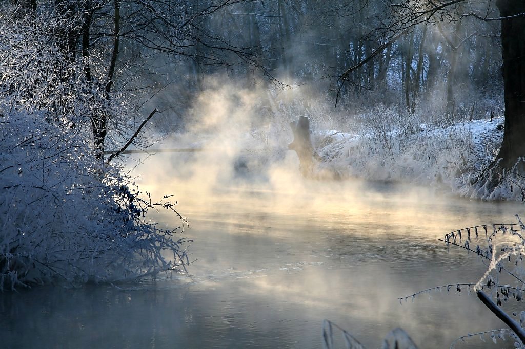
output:
[[[502,117],[445,127],[387,126],[388,121],[360,133],[316,133],[314,146],[320,162],[314,176],[411,182],[449,187],[472,198],[521,200],[521,191],[508,186],[488,193],[473,191],[470,184],[497,155]]]

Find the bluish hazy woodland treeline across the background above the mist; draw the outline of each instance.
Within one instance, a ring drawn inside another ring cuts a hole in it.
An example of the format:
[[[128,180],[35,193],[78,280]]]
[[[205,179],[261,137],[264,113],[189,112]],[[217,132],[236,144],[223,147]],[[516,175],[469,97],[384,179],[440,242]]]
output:
[[[154,96],[145,105],[160,104],[172,124],[183,122],[206,77],[217,73],[247,88],[306,85],[340,101],[374,92],[380,96],[376,103],[402,105],[408,113],[438,99],[448,119],[486,113],[481,101],[502,91],[500,23],[472,16],[480,11],[496,16],[491,4],[458,2],[454,10],[449,6],[416,25],[408,16],[417,8],[379,0],[13,5],[19,17],[51,11],[69,20],[56,36],[71,57],[86,62],[85,78],[102,90],[141,91],[142,102]],[[99,67],[88,60],[94,56]]]

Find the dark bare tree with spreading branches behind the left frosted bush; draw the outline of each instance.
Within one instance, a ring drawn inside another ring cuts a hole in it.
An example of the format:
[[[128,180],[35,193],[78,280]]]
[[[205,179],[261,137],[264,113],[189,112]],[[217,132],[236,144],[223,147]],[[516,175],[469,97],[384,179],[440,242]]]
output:
[[[235,12],[243,2],[31,0],[14,2],[6,9],[41,25],[56,23],[50,39],[57,40],[70,62],[82,63],[80,71],[70,73],[82,75],[90,85],[93,101],[105,101],[102,109],[89,115],[93,147],[102,159],[108,137],[111,147],[119,148],[119,143],[134,134],[128,130],[126,135],[119,117],[112,113],[112,105],[120,103],[116,97],[123,86],[129,87],[130,81],[136,80],[131,71],[137,72],[136,67],[148,64],[155,54],[163,54],[166,60],[192,60],[199,69],[250,66],[276,81],[260,59],[260,42],[239,42],[235,36],[215,30],[213,24],[225,13]],[[144,58],[135,60],[140,64],[131,68],[128,62],[134,54]]]

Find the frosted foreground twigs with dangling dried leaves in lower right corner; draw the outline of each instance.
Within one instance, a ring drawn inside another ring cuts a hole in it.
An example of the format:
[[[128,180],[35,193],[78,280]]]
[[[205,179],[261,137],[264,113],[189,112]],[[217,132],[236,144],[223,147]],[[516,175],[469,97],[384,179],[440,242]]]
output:
[[[525,295],[525,225],[518,215],[516,218],[517,223],[465,227],[445,236],[447,246],[463,248],[481,263],[488,264],[488,268],[475,284],[458,283],[430,290],[447,288],[448,291],[453,289],[459,293],[461,290],[468,293],[473,291],[479,300],[508,326],[505,329],[468,334],[457,341],[465,341],[468,337],[478,335],[482,339],[484,335],[489,335],[490,339],[497,343],[504,341],[507,336],[514,341],[514,347],[525,347],[525,312],[520,306]]]

